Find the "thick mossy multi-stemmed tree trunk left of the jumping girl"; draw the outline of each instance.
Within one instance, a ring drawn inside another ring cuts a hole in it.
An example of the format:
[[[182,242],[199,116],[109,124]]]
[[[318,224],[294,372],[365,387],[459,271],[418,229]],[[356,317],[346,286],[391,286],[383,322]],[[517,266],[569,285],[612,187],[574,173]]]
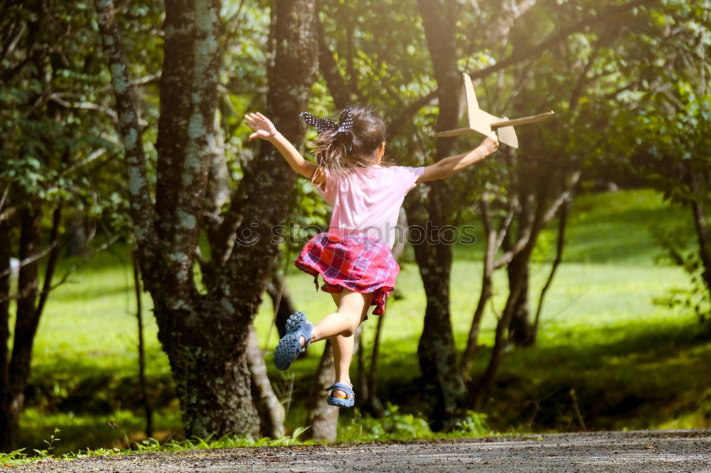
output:
[[[164,65],[155,205],[139,138],[137,99],[130,85],[111,0],[97,0],[100,30],[119,114],[141,276],[154,300],[159,340],[168,354],[188,437],[255,433],[247,339],[262,302],[277,245],[271,229],[287,218],[296,176],[273,146],[262,143],[245,169],[222,223],[209,233],[213,260],[196,246],[208,202],[208,175],[220,138],[215,102],[220,67],[220,1],[166,1]],[[267,115],[290,141],[304,138],[316,69],[314,0],[275,2],[277,38]],[[251,241],[235,244],[249,232]]]

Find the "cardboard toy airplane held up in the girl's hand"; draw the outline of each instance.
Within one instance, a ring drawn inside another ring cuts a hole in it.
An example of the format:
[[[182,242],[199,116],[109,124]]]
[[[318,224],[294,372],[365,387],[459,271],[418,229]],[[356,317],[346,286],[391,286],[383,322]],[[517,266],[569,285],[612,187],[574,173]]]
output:
[[[555,112],[551,110],[550,112],[545,112],[545,114],[523,116],[522,118],[513,120],[507,119],[506,117],[498,118],[498,116],[493,116],[492,114],[484,112],[479,108],[479,103],[476,102],[476,95],[474,94],[474,85],[471,85],[471,77],[469,77],[466,73],[463,75],[464,92],[466,93],[466,110],[469,115],[469,126],[466,128],[458,128],[456,130],[440,131],[439,133],[433,133],[430,136],[434,136],[435,138],[445,138],[448,136],[469,134],[474,131],[478,131],[483,135],[489,135],[492,130],[496,130],[496,134],[498,134],[498,141],[506,143],[512,148],[518,148],[518,137],[516,136],[516,132],[513,130],[514,126],[542,121],[555,114]]]

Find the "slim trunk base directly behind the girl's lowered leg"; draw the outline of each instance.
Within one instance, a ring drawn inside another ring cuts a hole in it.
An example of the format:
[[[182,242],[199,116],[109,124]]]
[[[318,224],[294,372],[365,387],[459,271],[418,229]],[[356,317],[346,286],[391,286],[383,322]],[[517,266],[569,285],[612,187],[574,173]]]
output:
[[[319,369],[316,371],[313,387],[309,396],[309,437],[319,442],[336,440],[338,427],[338,408],[326,404],[326,388],[333,384],[336,369],[333,366],[333,342],[326,340],[324,354],[321,355]]]

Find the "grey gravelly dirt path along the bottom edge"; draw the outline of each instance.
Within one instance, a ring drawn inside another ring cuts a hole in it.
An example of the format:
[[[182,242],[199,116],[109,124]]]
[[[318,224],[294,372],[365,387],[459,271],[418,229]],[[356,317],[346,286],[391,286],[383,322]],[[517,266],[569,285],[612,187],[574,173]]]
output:
[[[542,439],[542,440],[540,440]],[[646,430],[194,450],[43,462],[22,472],[711,472],[711,430]]]

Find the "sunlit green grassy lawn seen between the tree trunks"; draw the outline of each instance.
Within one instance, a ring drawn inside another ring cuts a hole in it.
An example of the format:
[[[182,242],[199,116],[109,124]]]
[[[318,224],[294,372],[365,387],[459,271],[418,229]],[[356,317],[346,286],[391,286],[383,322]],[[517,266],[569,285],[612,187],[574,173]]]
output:
[[[653,304],[668,290],[685,286],[686,278],[679,268],[654,263],[660,251],[650,225],[678,225],[687,218],[648,190],[587,195],[574,202],[564,263],[547,294],[538,343],[507,354],[486,409],[493,428],[576,430],[581,427],[574,415],[576,405],[588,429],[711,425],[711,335],[703,332],[695,315]],[[451,312],[460,349],[479,297],[482,246],[454,248]],[[547,278],[553,246],[555,231],[546,232],[531,268],[534,302]],[[35,343],[23,445],[42,447],[41,440],[55,427],[63,430],[58,450],[109,447],[139,438],[136,303],[128,262],[123,249],[102,254],[50,296]],[[380,395],[383,401],[400,404],[401,411],[421,415],[415,353],[424,292],[417,266],[401,266],[397,282],[402,298],[388,306],[384,321]],[[331,309],[330,297],[316,293],[310,276],[294,270],[287,284],[299,310],[315,320]],[[501,271],[494,290],[493,306],[501,310],[506,300]],[[156,339],[151,303],[146,295],[141,303],[151,392],[160,406],[156,436],[179,434],[180,415],[169,388],[168,362]],[[255,320],[260,340],[269,348],[277,342],[275,330],[266,339],[271,310],[267,298]],[[491,344],[495,322],[489,311],[482,342]],[[366,348],[374,330],[371,316],[365,324]],[[284,390],[289,376],[295,376],[290,428],[305,423],[304,396],[321,351],[314,348],[286,375],[271,371]],[[478,355],[475,376],[487,355],[486,349]],[[270,354],[267,363],[271,366]],[[68,393],[87,394],[82,398]],[[344,415],[343,425],[358,423],[353,415],[357,413]]]

